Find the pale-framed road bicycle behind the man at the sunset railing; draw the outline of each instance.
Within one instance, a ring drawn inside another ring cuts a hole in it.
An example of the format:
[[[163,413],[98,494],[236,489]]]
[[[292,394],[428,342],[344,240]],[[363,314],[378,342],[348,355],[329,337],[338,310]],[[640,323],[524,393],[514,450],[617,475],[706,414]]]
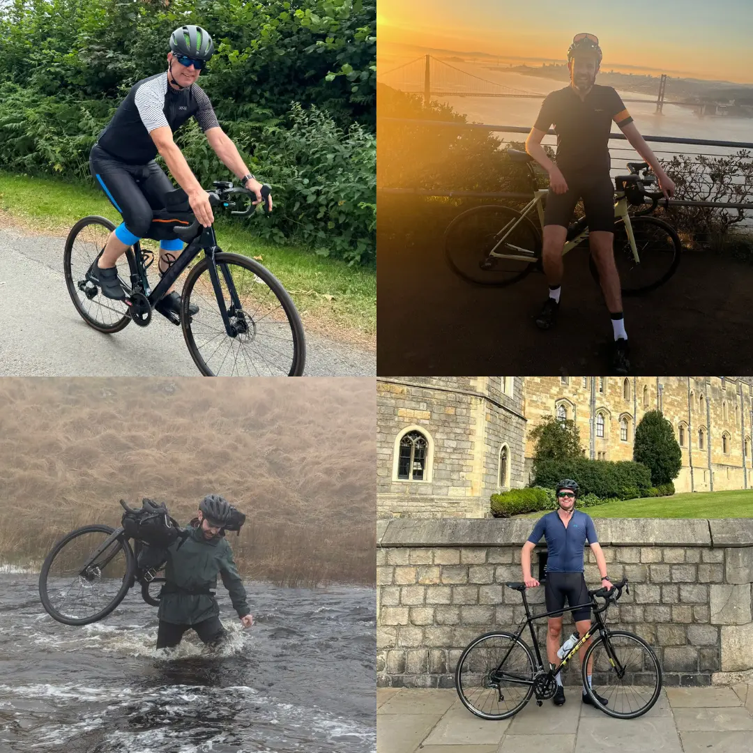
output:
[[[544,202],[548,189],[538,188],[533,158],[524,151],[508,149],[514,163],[526,165],[532,200],[520,211],[509,206],[476,206],[458,215],[447,226],[444,252],[450,269],[477,285],[511,285],[532,270],[543,271],[541,242],[544,228]],[[663,285],[677,270],[682,244],[675,229],[657,217],[647,217],[657,208],[661,192],[648,191],[656,176],[645,162],[629,162],[630,175],[614,178],[614,262],[620,274],[623,295],[645,293]],[[641,171],[643,174],[641,175]],[[648,209],[629,213],[628,205]],[[536,224],[529,215],[535,211]],[[567,230],[562,256],[588,237],[588,223],[582,217]],[[589,257],[593,278],[599,270]]]

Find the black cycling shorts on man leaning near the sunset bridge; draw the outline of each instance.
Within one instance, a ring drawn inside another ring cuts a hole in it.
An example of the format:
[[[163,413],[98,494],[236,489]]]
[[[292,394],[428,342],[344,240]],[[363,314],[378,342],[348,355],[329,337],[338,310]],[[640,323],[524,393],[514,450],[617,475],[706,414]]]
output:
[[[564,173],[563,173],[564,175]],[[544,225],[568,227],[578,199],[583,199],[588,229],[614,233],[614,183],[608,172],[565,175],[568,190],[555,194],[549,189]]]

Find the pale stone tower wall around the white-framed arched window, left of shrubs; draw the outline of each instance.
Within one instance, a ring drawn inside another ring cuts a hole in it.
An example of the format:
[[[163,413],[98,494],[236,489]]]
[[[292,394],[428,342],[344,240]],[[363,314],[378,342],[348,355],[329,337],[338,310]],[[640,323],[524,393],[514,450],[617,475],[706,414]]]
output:
[[[503,379],[510,380],[505,392]],[[377,514],[483,517],[489,497],[523,486],[520,377],[400,377],[377,380]],[[395,443],[414,426],[431,445],[427,480],[395,478]],[[500,450],[509,468],[500,486]]]

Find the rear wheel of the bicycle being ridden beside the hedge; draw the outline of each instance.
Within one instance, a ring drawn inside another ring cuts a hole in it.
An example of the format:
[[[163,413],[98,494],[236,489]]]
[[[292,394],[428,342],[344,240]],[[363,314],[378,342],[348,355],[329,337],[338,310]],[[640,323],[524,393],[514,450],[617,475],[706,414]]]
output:
[[[86,274],[114,229],[114,224],[105,217],[84,217],[68,233],[63,255],[66,287],[73,305],[87,325],[106,334],[120,332],[131,321],[128,306],[122,300],[105,298],[97,285],[87,281]],[[130,248],[117,260],[117,273],[130,287],[131,275],[136,273]]]

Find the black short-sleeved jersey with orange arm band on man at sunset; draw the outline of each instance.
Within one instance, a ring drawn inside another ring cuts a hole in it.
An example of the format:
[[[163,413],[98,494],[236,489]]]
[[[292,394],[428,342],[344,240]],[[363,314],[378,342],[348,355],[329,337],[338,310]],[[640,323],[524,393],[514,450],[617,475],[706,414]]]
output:
[[[609,132],[614,120],[620,128],[633,122],[620,95],[612,87],[591,87],[581,100],[571,86],[547,94],[534,128],[557,134],[556,163],[565,177],[573,172],[609,172]]]

